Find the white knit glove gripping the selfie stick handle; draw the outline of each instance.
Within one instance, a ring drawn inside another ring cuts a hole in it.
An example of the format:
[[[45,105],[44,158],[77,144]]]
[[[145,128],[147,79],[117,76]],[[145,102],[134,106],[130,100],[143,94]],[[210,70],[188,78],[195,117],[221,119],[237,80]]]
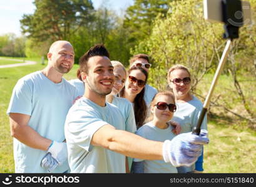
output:
[[[204,144],[209,143],[207,130],[201,130],[200,135],[182,133],[172,140],[163,143],[163,160],[173,166],[190,166],[202,153]]]

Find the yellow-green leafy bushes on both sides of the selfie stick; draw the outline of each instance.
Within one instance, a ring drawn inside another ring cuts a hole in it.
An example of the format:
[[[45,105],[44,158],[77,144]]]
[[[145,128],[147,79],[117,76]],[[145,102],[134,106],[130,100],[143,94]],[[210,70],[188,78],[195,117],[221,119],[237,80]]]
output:
[[[252,12],[255,12],[256,1],[250,2]],[[223,26],[203,19],[201,0],[173,1],[170,6],[172,11],[168,11],[166,19],[156,19],[150,37],[141,41],[131,53],[145,52],[151,55],[153,69],[149,81],[160,90],[166,89],[166,74],[172,65],[186,65],[192,72],[192,92],[204,100],[210,88],[205,83],[211,81],[206,79],[213,77],[225,47]],[[252,14],[252,19],[255,19],[255,14]],[[218,84],[215,88],[208,110],[209,113],[232,119],[239,117],[254,125],[256,107],[252,90],[256,90],[256,85],[253,84],[256,82],[253,74],[256,58],[255,28],[254,22],[240,28],[240,39],[232,42],[222,72],[223,84]]]

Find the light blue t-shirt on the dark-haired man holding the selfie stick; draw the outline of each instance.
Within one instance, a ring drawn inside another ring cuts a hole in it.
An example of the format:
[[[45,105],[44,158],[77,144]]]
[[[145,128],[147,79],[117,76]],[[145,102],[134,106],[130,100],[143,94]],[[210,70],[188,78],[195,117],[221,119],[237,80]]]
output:
[[[125,173],[125,155],[91,145],[91,138],[103,125],[125,130],[125,118],[111,103],[101,107],[81,97],[69,109],[65,122],[71,173]]]

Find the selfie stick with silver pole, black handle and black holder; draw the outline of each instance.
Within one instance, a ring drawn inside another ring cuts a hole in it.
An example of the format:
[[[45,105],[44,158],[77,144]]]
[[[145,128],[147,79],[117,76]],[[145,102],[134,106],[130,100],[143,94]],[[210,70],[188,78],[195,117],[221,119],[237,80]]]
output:
[[[231,21],[233,20],[232,15],[235,15],[235,12],[242,11],[242,5],[241,5],[241,1],[236,1],[237,7],[235,7],[235,6],[233,6],[233,4],[231,4],[233,2],[235,2],[235,1],[222,0],[223,22],[225,22],[225,25],[224,25],[225,33],[223,34],[223,37],[228,40],[227,40],[226,47],[223,51],[222,58],[220,59],[220,62],[218,64],[217,71],[215,72],[215,75],[213,77],[212,85],[210,86],[208,95],[205,98],[205,102],[203,103],[203,108],[202,108],[200,117],[197,122],[197,127],[193,128],[193,134],[196,134],[196,135],[200,134],[200,129],[201,129],[201,125],[203,122],[203,118],[205,117],[207,108],[210,105],[210,98],[212,97],[213,90],[215,89],[215,86],[217,84],[218,77],[220,77],[220,74],[223,69],[223,65],[225,64],[225,62],[227,60],[227,56],[228,56],[228,52],[230,51],[232,39],[238,38],[239,26],[233,26],[233,24],[230,24],[230,19],[231,19]],[[239,3],[240,3],[240,7],[239,7]],[[240,23],[243,22],[243,20],[241,21],[241,19],[239,21],[240,21]],[[240,26],[241,26],[241,24],[240,24]]]

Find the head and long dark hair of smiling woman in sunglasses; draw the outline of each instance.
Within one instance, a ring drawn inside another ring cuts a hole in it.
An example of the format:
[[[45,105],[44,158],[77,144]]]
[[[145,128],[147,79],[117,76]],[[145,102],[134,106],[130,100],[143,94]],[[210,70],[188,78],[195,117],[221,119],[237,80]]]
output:
[[[147,115],[147,106],[143,99],[147,79],[148,73],[146,70],[133,66],[128,70],[125,87],[119,93],[120,97],[124,97],[133,103],[137,129],[144,124]]]

